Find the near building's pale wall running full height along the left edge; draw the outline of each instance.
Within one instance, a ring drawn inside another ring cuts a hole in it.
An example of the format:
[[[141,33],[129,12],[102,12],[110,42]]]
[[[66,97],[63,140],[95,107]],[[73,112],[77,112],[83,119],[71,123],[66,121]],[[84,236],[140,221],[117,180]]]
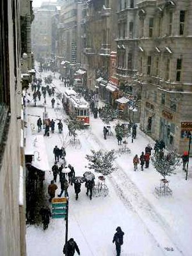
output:
[[[26,1],[28,4],[29,1]],[[26,255],[20,1],[0,3],[0,255]]]

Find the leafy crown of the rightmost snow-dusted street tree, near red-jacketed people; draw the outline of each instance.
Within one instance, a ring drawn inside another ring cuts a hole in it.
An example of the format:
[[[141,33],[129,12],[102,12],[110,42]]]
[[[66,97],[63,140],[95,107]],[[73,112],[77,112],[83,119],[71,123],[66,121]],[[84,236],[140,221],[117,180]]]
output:
[[[151,157],[151,161],[157,172],[159,172],[164,179],[175,171],[176,166],[180,165],[180,159],[175,152],[169,152],[166,155],[163,155],[162,151],[156,152],[156,154]]]

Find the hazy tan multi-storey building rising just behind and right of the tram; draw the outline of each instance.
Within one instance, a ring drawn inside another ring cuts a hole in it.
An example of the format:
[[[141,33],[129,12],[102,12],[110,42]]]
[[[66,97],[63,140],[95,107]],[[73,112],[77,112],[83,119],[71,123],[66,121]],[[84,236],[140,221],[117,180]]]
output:
[[[83,67],[87,70],[87,87],[95,91],[97,79],[109,79],[111,51],[116,43],[116,5],[113,0],[87,1],[84,17],[84,58]]]

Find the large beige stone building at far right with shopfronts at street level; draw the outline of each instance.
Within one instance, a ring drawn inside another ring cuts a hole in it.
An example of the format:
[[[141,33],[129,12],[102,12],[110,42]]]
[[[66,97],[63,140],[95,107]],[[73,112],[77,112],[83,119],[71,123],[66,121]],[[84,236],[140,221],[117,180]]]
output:
[[[140,1],[137,7],[140,127],[182,154],[192,131],[192,2]]]

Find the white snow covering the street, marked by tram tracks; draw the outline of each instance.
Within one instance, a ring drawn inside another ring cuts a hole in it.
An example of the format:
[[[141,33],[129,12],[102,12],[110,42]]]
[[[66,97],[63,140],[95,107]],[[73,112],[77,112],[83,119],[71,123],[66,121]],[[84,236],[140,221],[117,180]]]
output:
[[[46,75],[44,73],[44,76]],[[61,81],[54,79],[56,90],[65,90],[61,84]],[[47,96],[47,111],[49,118],[56,120],[55,133],[44,137],[50,170],[54,163],[53,148],[55,145],[61,147],[63,138],[69,140],[66,126],[63,136],[58,134],[57,120],[67,116],[62,108],[51,108],[51,98]],[[37,101],[36,107],[33,102],[26,107],[26,119],[28,126],[33,128],[34,136],[39,134],[36,123],[38,116],[42,116],[44,111],[43,105],[43,101],[41,104]],[[119,147],[115,136],[104,140],[102,128],[105,124],[101,119],[91,116],[90,123],[87,130],[79,132],[80,147],[74,148],[69,144],[66,148],[67,164],[74,166],[77,176],[82,176],[88,170],[85,168],[85,155],[90,154],[90,150],[118,150]],[[43,134],[43,131],[40,134]],[[116,227],[121,226],[125,232],[122,256],[192,255],[191,173],[189,172],[189,179],[186,181],[182,168],[176,170],[176,175],[169,177],[172,197],[157,197],[154,188],[159,185],[161,177],[154,171],[151,163],[150,168],[144,169],[144,172],[141,172],[140,168],[136,172],[133,171],[134,155],[140,155],[148,143],[154,145],[154,142],[140,130],[133,143],[130,138],[128,140],[131,153],[118,155],[115,162],[118,170],[106,177],[106,185],[109,188],[106,197],[93,197],[93,200],[90,200],[82,184],[79,200],[76,201],[73,186],[69,187],[69,238],[74,238],[83,256],[116,255],[112,239]],[[191,163],[189,170],[191,171]],[[48,186],[51,180],[52,173],[45,172],[44,186]],[[60,192],[59,181],[57,184],[56,194]],[[42,226],[28,225],[26,237],[28,256],[63,255],[65,221],[51,219],[45,231]],[[167,251],[165,247],[173,248],[174,251]]]

